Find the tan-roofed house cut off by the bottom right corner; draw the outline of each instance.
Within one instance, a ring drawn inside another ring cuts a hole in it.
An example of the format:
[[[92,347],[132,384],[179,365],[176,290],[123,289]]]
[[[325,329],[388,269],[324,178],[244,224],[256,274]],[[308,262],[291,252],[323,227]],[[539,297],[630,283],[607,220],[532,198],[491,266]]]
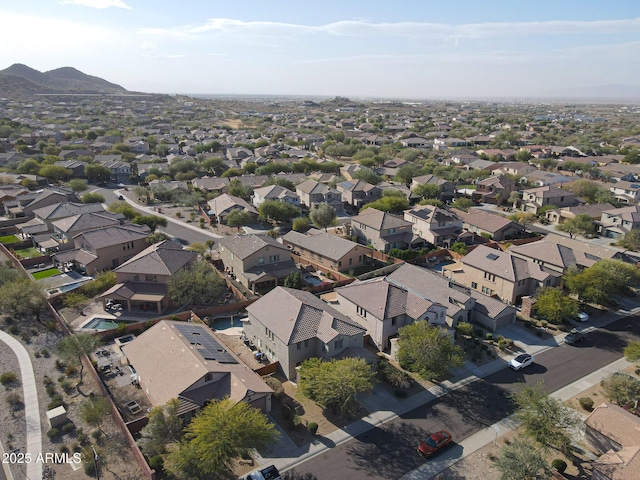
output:
[[[585,420],[585,439],[600,454],[591,463],[592,480],[640,479],[640,418],[603,403]]]

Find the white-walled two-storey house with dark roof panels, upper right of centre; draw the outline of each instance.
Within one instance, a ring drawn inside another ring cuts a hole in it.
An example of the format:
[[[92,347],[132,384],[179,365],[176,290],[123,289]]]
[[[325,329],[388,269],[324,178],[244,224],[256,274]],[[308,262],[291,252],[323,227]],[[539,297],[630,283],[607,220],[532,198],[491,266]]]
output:
[[[404,211],[412,232],[432,245],[450,246],[462,232],[462,220],[455,214],[431,205],[417,205]]]

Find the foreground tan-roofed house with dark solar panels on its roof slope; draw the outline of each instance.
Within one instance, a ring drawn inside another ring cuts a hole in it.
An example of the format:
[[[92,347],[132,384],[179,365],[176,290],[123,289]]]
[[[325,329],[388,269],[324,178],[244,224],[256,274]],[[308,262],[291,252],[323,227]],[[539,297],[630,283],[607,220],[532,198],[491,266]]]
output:
[[[122,347],[154,407],[178,399],[188,421],[208,402],[229,398],[268,413],[273,390],[205,325],[161,320]]]

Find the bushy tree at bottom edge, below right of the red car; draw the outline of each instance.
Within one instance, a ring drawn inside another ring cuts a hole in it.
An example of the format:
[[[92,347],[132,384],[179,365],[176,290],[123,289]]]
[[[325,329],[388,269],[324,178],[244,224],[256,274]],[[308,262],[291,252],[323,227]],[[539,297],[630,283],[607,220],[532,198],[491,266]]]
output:
[[[542,480],[551,475],[542,450],[527,437],[505,444],[493,466],[500,472],[500,480]]]

